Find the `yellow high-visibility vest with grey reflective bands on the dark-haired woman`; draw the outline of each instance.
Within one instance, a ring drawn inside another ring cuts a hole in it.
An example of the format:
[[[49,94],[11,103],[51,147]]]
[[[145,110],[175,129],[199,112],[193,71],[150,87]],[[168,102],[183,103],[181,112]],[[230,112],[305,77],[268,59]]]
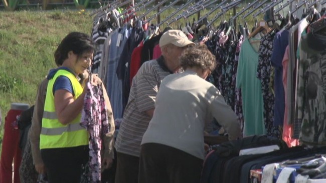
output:
[[[59,122],[54,105],[53,85],[60,75],[67,76],[70,79],[75,93],[74,99],[83,92],[83,87],[76,76],[67,70],[58,70],[53,78],[49,80],[42,118],[40,149],[75,147],[88,144],[88,131],[80,125],[81,113],[66,125]]]

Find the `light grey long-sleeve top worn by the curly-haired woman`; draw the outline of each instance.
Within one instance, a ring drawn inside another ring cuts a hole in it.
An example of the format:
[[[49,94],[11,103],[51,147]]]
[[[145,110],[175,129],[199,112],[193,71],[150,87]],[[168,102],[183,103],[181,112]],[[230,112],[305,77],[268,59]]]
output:
[[[141,144],[160,143],[204,159],[204,127],[213,117],[230,140],[241,136],[237,115],[213,84],[191,70],[168,75],[160,84]]]

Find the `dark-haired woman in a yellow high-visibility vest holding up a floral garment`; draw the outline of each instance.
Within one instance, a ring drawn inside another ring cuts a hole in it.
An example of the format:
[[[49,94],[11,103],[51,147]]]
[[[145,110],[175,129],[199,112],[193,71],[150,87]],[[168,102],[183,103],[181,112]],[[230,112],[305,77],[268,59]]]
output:
[[[62,66],[50,70],[47,76],[40,134],[41,156],[49,182],[80,182],[82,167],[88,161],[88,132],[79,125],[86,89],[77,75],[88,68],[94,49],[89,35],[71,32],[55,52],[55,61]]]

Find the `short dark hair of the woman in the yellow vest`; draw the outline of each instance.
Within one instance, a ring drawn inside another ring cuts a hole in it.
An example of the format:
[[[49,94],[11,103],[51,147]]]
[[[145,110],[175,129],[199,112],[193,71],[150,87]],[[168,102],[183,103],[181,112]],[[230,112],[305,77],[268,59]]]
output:
[[[70,32],[58,45],[54,52],[54,60],[59,66],[68,57],[69,51],[73,51],[79,57],[85,52],[94,50],[95,45],[89,35],[82,32]]]

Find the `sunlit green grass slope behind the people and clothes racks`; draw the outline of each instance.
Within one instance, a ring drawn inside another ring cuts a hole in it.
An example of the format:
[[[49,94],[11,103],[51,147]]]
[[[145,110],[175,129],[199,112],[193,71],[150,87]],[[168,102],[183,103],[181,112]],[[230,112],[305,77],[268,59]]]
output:
[[[175,8],[162,13],[161,20],[173,11]],[[201,14],[206,14],[208,11],[202,10]],[[35,103],[39,83],[49,69],[55,67],[53,53],[61,39],[71,31],[91,33],[93,17],[88,15],[89,12],[0,11],[0,108],[3,119],[11,103],[22,102],[30,105]],[[221,16],[216,24],[220,20],[228,20],[232,15],[231,12],[232,10],[225,16]],[[146,17],[152,16],[153,13],[149,13]],[[215,13],[211,14],[209,19]],[[192,22],[193,17],[197,19],[197,14],[188,19]],[[247,18],[247,22],[252,25],[254,19],[250,17]],[[179,24],[184,25],[184,22],[185,19],[181,19],[170,26],[178,27]],[[156,23],[156,18],[152,23]],[[163,28],[164,26],[161,27]],[[0,132],[0,141],[3,132],[4,130]]]

